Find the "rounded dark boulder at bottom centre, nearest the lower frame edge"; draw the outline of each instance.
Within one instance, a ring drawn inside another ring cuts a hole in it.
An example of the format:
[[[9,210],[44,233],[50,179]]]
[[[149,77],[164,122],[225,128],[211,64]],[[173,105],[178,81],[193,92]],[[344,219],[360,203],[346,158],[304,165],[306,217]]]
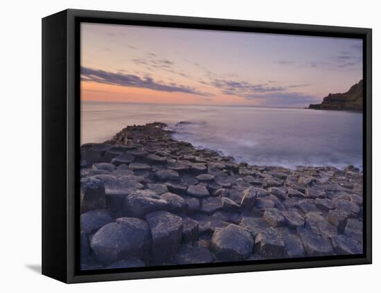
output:
[[[242,227],[229,224],[213,233],[212,249],[219,260],[245,260],[253,250],[254,240]]]

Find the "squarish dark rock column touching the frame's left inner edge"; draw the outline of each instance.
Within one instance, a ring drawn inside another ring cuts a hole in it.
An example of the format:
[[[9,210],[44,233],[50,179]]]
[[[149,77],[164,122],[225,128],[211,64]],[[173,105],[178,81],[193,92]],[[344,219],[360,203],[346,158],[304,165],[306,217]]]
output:
[[[80,181],[81,213],[106,207],[105,184],[100,179],[82,178]]]

